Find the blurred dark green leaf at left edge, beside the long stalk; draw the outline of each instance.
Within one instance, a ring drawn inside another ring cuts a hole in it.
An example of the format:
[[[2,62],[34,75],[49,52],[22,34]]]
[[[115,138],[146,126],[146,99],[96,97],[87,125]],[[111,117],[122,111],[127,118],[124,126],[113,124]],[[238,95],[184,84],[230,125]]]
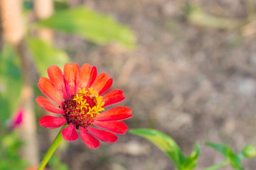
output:
[[[5,44],[0,52],[0,123],[4,124],[17,109],[21,84],[18,55]]]

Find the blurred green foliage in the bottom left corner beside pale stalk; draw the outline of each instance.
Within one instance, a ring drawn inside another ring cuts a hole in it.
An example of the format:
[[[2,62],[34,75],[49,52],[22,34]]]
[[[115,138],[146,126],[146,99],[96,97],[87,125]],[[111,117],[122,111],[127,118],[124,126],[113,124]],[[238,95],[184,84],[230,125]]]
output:
[[[15,133],[5,135],[0,140],[0,170],[25,170],[28,164],[20,159],[22,142]]]

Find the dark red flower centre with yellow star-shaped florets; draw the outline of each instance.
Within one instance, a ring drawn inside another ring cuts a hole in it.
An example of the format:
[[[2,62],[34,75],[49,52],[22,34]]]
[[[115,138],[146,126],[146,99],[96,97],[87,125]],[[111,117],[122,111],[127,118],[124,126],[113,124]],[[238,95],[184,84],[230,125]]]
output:
[[[99,112],[104,111],[101,102],[102,96],[98,96],[92,88],[79,88],[79,93],[72,95],[64,102],[63,110],[68,123],[73,123],[77,129],[79,126],[91,126]]]

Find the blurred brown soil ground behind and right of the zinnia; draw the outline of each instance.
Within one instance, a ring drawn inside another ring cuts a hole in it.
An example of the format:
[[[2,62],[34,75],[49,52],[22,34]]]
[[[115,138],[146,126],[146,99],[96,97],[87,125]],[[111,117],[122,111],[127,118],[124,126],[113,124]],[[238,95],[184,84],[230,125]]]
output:
[[[213,15],[243,18],[243,0],[193,0]],[[197,170],[223,157],[204,142],[241,151],[256,145],[256,36],[237,30],[198,27],[187,22],[182,0],[70,0],[116,18],[137,36],[137,48],[95,46],[78,36],[56,34],[55,42],[74,62],[89,63],[124,90],[119,105],[132,108],[130,128],[156,128],[172,136],[189,154],[200,144]],[[47,146],[45,150],[47,149]],[[126,134],[115,144],[89,150],[71,142],[62,161],[70,170],[173,170],[168,157],[141,137]],[[246,160],[246,170],[256,161]],[[229,167],[223,170],[230,170]]]

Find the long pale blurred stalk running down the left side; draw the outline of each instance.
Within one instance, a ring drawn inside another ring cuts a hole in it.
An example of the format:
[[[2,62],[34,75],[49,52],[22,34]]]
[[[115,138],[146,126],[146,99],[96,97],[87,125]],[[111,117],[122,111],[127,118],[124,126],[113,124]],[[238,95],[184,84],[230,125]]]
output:
[[[22,0],[0,0],[0,16],[3,28],[4,41],[12,44],[20,56],[23,76],[21,89],[21,108],[24,109],[24,119],[20,136],[25,145],[22,147],[21,156],[31,165],[38,165],[38,147],[33,108],[33,88],[31,82],[31,60],[26,53],[26,47],[22,38],[24,36],[24,23],[22,18]],[[14,100],[15,97],[12,96]]]

